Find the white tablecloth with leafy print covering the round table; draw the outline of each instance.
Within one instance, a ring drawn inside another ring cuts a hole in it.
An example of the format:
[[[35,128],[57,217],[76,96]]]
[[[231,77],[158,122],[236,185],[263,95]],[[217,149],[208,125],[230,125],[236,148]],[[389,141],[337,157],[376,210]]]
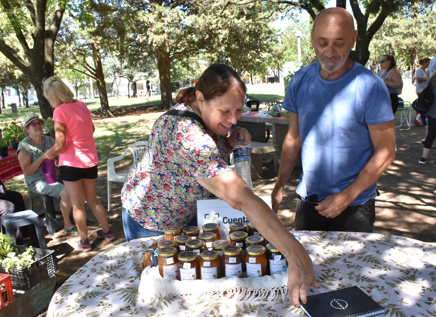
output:
[[[387,310],[384,316],[436,316],[436,248],[395,235],[293,231],[311,255],[320,289],[358,285]],[[112,247],[86,263],[54,294],[47,317],[305,316],[289,302],[229,298],[159,299],[138,294],[142,256],[160,237]],[[381,316],[381,315],[380,315]]]

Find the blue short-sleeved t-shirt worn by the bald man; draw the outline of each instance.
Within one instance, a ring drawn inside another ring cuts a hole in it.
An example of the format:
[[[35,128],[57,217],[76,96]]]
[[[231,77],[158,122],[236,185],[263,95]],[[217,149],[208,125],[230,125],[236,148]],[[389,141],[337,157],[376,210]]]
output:
[[[368,126],[394,119],[386,85],[359,63],[334,80],[321,77],[319,63],[300,69],[283,108],[299,118],[302,198],[316,193],[322,199],[351,184],[374,154]],[[376,188],[375,182],[350,205],[374,198]]]

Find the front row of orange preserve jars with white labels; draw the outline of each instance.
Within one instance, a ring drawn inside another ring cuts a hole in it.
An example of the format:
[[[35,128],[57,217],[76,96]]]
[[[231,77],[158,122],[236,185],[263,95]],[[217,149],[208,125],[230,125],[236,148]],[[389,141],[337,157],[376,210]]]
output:
[[[248,246],[245,250],[246,255],[243,256],[241,247],[231,246],[226,240],[215,242],[226,246],[221,248],[220,252],[206,250],[199,254],[193,250],[178,253],[176,246],[168,246],[174,241],[159,242],[160,248],[157,254],[160,275],[164,279],[180,281],[219,279],[229,276],[242,278],[245,269],[247,277],[259,277],[281,273],[287,265],[285,257],[271,243],[266,247]]]

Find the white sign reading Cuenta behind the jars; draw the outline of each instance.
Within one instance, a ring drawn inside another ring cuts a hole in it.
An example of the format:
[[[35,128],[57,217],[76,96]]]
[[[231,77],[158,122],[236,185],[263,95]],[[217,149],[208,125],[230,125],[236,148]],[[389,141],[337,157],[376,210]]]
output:
[[[259,196],[268,206],[271,204],[271,196]],[[219,224],[219,232],[222,238],[229,235],[229,225],[233,222],[249,224],[248,218],[242,211],[233,209],[228,203],[219,198],[197,200],[197,225],[201,227],[205,223],[215,222]],[[221,238],[221,239],[222,239]]]

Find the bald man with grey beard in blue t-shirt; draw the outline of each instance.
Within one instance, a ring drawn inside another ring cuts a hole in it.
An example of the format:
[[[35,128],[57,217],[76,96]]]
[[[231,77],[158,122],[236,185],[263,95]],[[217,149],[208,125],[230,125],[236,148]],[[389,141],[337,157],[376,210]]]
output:
[[[272,201],[277,212],[301,149],[296,230],[373,231],[377,179],[395,158],[394,117],[383,81],[348,58],[356,37],[346,10],[321,11],[311,32],[318,63],[295,73],[283,100],[289,130]]]

